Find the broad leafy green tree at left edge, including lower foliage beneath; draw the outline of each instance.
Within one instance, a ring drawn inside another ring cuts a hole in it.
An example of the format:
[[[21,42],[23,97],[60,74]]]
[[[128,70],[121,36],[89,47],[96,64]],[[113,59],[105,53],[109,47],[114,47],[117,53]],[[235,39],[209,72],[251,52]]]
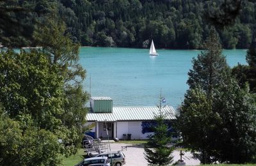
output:
[[[59,70],[44,52],[1,52],[1,165],[57,165],[70,153],[58,143],[68,137]]]

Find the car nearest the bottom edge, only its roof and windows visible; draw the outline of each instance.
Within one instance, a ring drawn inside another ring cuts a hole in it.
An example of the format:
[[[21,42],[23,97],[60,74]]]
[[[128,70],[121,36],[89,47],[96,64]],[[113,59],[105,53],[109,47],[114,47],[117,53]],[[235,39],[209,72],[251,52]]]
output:
[[[83,161],[77,163],[75,166],[110,166],[110,163],[108,162],[108,157],[100,156],[86,158]]]

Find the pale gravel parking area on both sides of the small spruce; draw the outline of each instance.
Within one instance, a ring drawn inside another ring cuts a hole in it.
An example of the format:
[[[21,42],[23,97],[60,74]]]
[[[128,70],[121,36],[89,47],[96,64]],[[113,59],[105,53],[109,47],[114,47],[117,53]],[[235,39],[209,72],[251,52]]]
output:
[[[121,143],[111,143],[111,151],[121,151],[122,146],[127,146],[127,149],[123,149],[125,154],[126,166],[147,166],[147,160],[144,158],[144,149],[140,145],[131,145],[131,144],[121,144]],[[173,151],[173,162],[177,162],[180,159],[180,151]],[[184,152],[182,160],[186,162],[186,165],[200,165],[200,161],[193,158],[193,155],[190,152]]]

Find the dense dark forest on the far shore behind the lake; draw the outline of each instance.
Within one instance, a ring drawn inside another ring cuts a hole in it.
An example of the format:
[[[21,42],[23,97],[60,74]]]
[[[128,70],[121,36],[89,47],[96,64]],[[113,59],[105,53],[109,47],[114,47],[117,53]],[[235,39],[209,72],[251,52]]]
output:
[[[213,22],[223,29],[218,33],[225,49],[244,49],[255,29],[256,3],[239,1],[0,1],[1,42],[35,45],[35,30],[55,13],[72,41],[81,45],[145,47],[144,41],[154,39],[157,48],[203,49]],[[230,22],[235,26],[227,27]]]

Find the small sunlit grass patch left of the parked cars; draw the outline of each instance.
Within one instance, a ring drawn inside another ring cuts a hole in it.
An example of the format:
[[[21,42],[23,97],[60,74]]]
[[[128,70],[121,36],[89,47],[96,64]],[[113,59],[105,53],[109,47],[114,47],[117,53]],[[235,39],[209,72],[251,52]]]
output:
[[[84,149],[78,149],[76,155],[69,156],[68,158],[65,158],[62,162],[63,166],[73,166],[77,163],[81,162],[84,158]]]

